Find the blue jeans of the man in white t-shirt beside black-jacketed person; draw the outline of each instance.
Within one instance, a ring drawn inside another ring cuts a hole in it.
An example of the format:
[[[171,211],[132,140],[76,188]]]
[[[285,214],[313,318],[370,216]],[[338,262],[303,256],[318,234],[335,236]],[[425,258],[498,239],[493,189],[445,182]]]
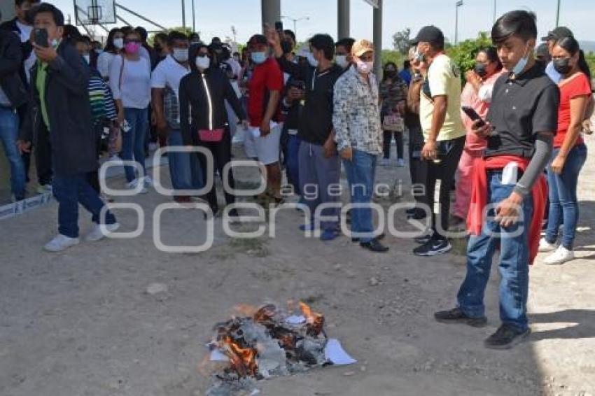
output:
[[[167,136],[167,146],[182,147],[182,132],[172,129]],[[167,153],[169,161],[169,176],[172,178],[174,190],[199,190],[202,188],[202,171],[195,153]]]

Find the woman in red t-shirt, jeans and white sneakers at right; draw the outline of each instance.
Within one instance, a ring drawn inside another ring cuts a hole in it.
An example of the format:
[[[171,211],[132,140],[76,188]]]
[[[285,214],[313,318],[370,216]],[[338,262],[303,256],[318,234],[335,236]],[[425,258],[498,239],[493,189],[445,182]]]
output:
[[[573,243],[578,221],[576,188],[578,174],[587,160],[582,122],[591,98],[591,71],[584,53],[573,37],[561,38],[552,50],[554,68],[561,74],[558,132],[554,152],[547,167],[549,216],[540,251],[553,251],[546,264],[563,264],[574,259]],[[558,246],[559,227],[563,225]]]

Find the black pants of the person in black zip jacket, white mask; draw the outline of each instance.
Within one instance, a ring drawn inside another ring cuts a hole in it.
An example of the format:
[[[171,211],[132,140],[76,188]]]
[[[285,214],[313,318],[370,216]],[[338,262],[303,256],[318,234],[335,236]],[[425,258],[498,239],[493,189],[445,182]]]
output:
[[[225,133],[223,134],[223,139],[221,139],[221,141],[201,141],[198,143],[198,145],[209,149],[211,155],[213,156],[215,169],[219,171],[221,181],[223,181],[223,167],[225,167],[225,164],[228,164],[228,162],[231,162],[232,160],[232,136],[230,133],[230,129],[225,128]],[[207,183],[207,180],[209,180],[209,176],[214,177],[214,175],[207,175],[207,159],[204,157],[204,155],[200,153],[197,153],[196,155],[198,155],[200,160],[200,167],[202,169],[202,179],[204,183]],[[228,181],[230,184],[230,188],[235,189],[235,181],[233,177],[233,171],[231,168],[229,169]],[[235,202],[235,196],[228,194],[227,191],[225,191],[224,193],[225,203],[228,205],[233,204]],[[204,199],[206,199],[209,202],[209,206],[211,206],[214,212],[218,210],[219,206],[217,204],[217,190],[215,188],[215,181],[213,181],[213,185],[211,185],[211,190],[207,192],[207,195],[205,195]]]

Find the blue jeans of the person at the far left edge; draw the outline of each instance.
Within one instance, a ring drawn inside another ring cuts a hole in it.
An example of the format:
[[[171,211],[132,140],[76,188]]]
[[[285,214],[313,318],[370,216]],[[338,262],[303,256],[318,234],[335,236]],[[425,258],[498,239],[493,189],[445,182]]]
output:
[[[10,108],[0,107],[0,140],[10,162],[10,186],[16,199],[25,198],[25,163],[17,148],[19,117]]]

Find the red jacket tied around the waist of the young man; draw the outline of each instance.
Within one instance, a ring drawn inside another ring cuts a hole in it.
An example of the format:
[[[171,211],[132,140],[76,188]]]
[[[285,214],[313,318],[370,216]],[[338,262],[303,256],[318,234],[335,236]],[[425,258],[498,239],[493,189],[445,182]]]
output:
[[[517,162],[519,169],[525,171],[529,160],[528,158],[516,157],[514,155],[475,159],[472,174],[471,204],[467,218],[467,227],[471,234],[479,235],[482,233],[484,208],[488,203],[487,171],[504,169],[510,162]],[[547,202],[547,182],[545,176],[541,175],[538,181],[535,182],[531,190],[531,195],[533,196],[533,218],[531,218],[528,232],[529,264],[533,264],[533,260],[535,260],[539,249],[541,220],[545,214],[545,205]]]

